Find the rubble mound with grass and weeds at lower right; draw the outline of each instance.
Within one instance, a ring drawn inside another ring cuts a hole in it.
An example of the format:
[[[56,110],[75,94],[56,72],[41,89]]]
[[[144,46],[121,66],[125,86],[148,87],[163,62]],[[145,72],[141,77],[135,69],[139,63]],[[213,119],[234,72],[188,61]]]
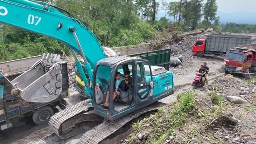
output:
[[[250,127],[256,117],[253,87],[229,75],[178,94],[176,102],[134,123],[132,134],[121,144],[250,144],[256,139]],[[243,92],[247,94],[235,96]]]

